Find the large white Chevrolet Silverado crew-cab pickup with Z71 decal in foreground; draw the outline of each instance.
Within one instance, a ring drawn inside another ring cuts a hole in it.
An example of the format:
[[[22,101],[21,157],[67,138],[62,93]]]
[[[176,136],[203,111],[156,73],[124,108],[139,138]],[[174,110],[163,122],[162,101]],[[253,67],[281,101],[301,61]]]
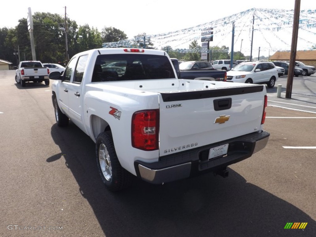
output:
[[[164,51],[94,49],[49,77],[57,124],[70,119],[96,143],[112,191],[127,187],[131,174],[154,184],[205,172],[227,177],[228,165],[270,136],[264,85],[178,79]]]

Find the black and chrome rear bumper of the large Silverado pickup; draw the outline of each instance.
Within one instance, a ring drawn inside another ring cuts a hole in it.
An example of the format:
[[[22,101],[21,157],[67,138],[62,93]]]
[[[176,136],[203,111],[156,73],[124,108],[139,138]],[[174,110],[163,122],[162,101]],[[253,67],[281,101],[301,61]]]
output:
[[[134,167],[138,177],[153,184],[217,172],[263,149],[268,143],[269,136],[270,134],[266,131],[255,132],[220,143],[162,156],[154,163],[135,161]],[[210,149],[224,144],[229,144],[227,155],[208,160]]]

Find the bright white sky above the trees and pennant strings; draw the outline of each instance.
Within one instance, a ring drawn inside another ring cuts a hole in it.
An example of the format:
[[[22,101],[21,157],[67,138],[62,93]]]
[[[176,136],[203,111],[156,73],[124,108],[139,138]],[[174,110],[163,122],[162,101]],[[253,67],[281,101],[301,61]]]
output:
[[[83,4],[84,3],[84,4]],[[133,38],[140,33],[158,34],[194,27],[251,8],[294,9],[295,0],[225,0],[225,1],[21,1],[1,3],[0,28],[15,27],[27,18],[28,8],[35,12],[50,12],[67,17],[78,25],[98,28],[115,27]],[[316,1],[301,0],[301,10],[316,9]]]

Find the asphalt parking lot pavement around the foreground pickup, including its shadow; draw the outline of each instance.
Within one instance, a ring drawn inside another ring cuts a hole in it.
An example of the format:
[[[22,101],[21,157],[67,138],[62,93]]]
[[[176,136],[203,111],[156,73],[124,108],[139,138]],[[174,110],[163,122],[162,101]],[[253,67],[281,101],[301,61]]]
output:
[[[0,236],[316,236],[316,76],[292,98],[267,88],[267,146],[228,167],[165,185],[102,184],[94,143],[55,124],[51,86],[0,71]],[[284,229],[307,222],[305,229]]]

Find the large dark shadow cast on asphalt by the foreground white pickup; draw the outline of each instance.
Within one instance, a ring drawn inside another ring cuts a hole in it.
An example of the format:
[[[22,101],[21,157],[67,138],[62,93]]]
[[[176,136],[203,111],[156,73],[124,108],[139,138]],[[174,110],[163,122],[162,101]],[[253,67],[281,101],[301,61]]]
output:
[[[272,195],[229,169],[229,177],[212,173],[165,185],[139,179],[122,192],[108,191],[94,158],[94,143],[70,122],[51,128],[66,155],[82,196],[107,237],[119,236],[315,236],[315,221],[294,205]],[[304,230],[284,229],[287,222],[308,222]]]

